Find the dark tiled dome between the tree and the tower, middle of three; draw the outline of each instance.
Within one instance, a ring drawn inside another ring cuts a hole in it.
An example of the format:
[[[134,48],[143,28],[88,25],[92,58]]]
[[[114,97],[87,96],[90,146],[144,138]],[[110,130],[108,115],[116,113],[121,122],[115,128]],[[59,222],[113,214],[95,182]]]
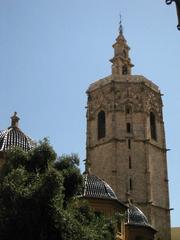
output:
[[[102,179],[94,175],[88,174],[85,174],[83,178],[84,178],[83,189],[84,197],[117,200],[116,194],[114,193],[112,188]]]

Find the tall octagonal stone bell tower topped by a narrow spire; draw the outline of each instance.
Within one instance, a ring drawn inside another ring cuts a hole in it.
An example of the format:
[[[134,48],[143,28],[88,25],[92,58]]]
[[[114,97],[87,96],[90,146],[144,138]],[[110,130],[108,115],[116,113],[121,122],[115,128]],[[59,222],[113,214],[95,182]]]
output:
[[[87,90],[86,169],[109,183],[119,200],[132,200],[158,231],[157,239],[170,240],[161,92],[131,74],[121,24],[113,48],[112,74]]]

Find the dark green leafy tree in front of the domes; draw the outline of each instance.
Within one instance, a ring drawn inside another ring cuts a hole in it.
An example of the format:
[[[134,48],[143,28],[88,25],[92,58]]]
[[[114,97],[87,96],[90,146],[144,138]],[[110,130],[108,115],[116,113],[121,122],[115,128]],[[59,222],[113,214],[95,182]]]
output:
[[[114,239],[113,220],[76,197],[78,166],[77,155],[57,158],[46,139],[32,151],[8,152],[0,170],[0,239]]]

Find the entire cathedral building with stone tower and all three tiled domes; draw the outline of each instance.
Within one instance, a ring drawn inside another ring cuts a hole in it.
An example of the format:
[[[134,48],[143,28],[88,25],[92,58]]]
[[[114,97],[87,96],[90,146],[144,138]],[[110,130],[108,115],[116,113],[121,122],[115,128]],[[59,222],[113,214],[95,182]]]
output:
[[[120,23],[112,74],[92,83],[87,102],[87,157],[82,198],[96,212],[120,213],[117,240],[170,240],[166,141],[159,87],[134,66]],[[14,146],[35,142],[18,126],[0,132],[0,164]]]

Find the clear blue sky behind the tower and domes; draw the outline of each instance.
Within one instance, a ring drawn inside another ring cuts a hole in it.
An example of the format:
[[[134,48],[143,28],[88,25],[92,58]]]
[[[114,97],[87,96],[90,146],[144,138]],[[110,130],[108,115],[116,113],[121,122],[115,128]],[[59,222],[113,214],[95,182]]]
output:
[[[86,90],[111,74],[119,14],[133,74],[164,94],[172,226],[180,226],[180,32],[165,0],[0,0],[0,129],[14,111],[31,138],[86,158]]]

